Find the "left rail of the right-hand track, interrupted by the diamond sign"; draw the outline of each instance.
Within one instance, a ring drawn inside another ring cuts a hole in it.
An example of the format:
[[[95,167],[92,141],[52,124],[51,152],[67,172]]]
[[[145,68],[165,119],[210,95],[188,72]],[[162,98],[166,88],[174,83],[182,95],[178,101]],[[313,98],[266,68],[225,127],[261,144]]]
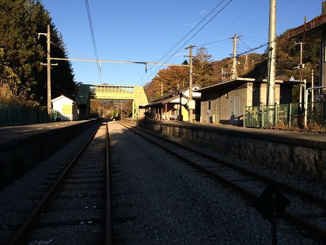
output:
[[[118,121],[119,122],[119,121]],[[248,199],[249,201],[253,202],[254,200],[256,200],[258,198],[258,195],[252,193],[251,191],[244,189],[240,186],[238,186],[237,184],[233,183],[232,181],[227,180],[226,178],[214,173],[213,171],[209,170],[208,168],[198,165],[196,162],[194,162],[191,159],[188,159],[187,157],[184,157],[182,155],[180,155],[179,153],[169,149],[168,147],[161,145],[160,143],[146,137],[145,135],[135,131],[134,129],[128,128],[125,124],[122,124],[121,122],[119,122],[122,126],[126,127],[127,129],[133,131],[134,133],[137,133],[138,135],[142,136],[143,138],[147,139],[148,141],[160,146],[160,148],[163,148],[164,150],[166,150],[167,152],[170,152],[174,155],[176,155],[179,159],[182,159],[188,163],[190,163],[192,166],[194,166],[195,168],[201,170],[203,173],[205,173],[206,175],[208,175],[210,178],[218,181],[218,182],[222,182],[222,184],[230,186],[232,189],[238,191],[242,197]],[[133,127],[128,125],[129,127]],[[134,127],[135,128],[135,127]],[[145,132],[145,131],[143,131]],[[148,133],[148,132],[145,132]],[[148,133],[150,134],[150,133]],[[154,135],[154,134],[152,134]],[[156,136],[156,135],[154,135]],[[156,136],[158,137],[158,136]],[[173,141],[169,141],[171,143],[175,143]],[[193,150],[192,150],[193,151]],[[283,214],[280,216],[282,219],[284,219],[286,222],[288,222],[289,224],[291,224],[292,226],[295,226],[298,229],[302,229],[304,230],[307,235],[315,240],[317,240],[318,242],[321,242],[322,244],[325,243],[325,237],[326,237],[326,230],[325,229],[320,229],[319,227],[307,222],[306,220],[296,216],[295,214],[289,212],[289,211],[284,211]]]

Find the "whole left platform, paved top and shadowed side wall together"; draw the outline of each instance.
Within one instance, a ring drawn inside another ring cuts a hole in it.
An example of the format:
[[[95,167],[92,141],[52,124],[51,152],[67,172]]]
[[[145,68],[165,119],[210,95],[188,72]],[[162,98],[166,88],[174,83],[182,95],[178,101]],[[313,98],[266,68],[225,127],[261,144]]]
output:
[[[0,189],[97,121],[60,121],[0,127]]]

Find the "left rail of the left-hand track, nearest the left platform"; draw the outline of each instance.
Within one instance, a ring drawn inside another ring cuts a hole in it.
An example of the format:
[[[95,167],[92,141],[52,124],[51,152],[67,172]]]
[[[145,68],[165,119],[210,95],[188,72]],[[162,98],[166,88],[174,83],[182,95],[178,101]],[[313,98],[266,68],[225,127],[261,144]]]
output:
[[[75,157],[71,160],[71,162],[67,165],[63,173],[59,176],[59,178],[56,180],[56,182],[51,186],[51,188],[46,192],[42,200],[39,202],[39,204],[36,206],[36,208],[32,211],[30,216],[25,219],[23,224],[19,227],[19,229],[14,233],[14,235],[10,238],[8,245],[21,245],[28,241],[31,231],[33,230],[37,218],[43,211],[45,205],[50,200],[50,198],[55,194],[57,187],[60,185],[62,180],[64,179],[65,175],[68,173],[68,170],[70,167],[76,162],[77,158],[84,152],[86,146],[91,142],[93,137],[95,136],[97,130],[102,125],[102,122],[99,123],[98,127],[94,131],[94,133],[91,135],[91,137],[87,140],[87,142],[82,146],[82,148],[78,151],[78,153],[75,155]]]

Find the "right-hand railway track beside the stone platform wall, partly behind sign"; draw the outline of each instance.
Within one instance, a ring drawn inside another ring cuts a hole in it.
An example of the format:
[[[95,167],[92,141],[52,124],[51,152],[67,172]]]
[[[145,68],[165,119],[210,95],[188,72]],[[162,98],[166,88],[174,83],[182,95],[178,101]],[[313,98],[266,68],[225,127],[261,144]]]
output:
[[[159,137],[156,134],[135,128],[121,121],[118,122],[150,142],[164,148],[179,159],[203,171],[209,177],[219,181],[223,185],[232,187],[250,202],[256,200],[268,184],[273,183],[291,202],[287,210],[281,215],[281,218],[295,226],[305,236],[309,236],[325,244],[326,200],[287,184],[261,176],[248,169],[235,166],[221,159],[188,148],[164,137]]]

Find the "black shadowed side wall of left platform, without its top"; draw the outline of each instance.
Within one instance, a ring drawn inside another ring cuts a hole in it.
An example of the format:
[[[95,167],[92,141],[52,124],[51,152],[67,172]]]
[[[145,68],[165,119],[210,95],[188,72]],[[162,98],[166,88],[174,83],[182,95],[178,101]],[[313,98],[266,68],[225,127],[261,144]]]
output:
[[[91,120],[0,144],[0,189],[94,125]]]

